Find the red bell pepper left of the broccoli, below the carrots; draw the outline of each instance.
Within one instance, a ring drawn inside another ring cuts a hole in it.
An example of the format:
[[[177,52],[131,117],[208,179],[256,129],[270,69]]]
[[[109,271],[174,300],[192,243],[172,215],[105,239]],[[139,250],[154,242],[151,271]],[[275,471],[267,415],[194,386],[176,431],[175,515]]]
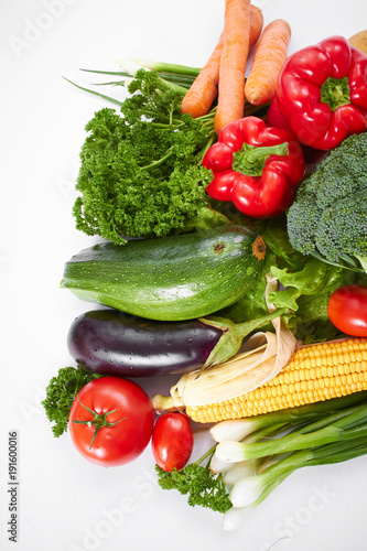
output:
[[[262,119],[229,122],[203,159],[213,172],[206,187],[215,199],[233,202],[251,218],[271,218],[291,204],[305,162],[292,132],[270,128]]]

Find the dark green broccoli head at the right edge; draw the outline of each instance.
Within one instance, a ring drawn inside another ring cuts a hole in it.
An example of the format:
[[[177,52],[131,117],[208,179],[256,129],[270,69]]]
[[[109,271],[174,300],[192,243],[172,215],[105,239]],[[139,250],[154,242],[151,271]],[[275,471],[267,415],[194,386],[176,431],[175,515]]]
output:
[[[345,139],[301,183],[287,214],[303,255],[367,271],[367,132]]]

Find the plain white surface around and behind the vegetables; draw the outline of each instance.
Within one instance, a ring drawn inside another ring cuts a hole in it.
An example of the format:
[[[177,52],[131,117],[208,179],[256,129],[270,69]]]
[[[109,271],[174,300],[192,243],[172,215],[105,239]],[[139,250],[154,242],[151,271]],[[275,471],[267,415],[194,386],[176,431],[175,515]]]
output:
[[[349,37],[367,22],[365,0],[253,3],[266,24],[290,22],[290,53]],[[84,126],[105,105],[62,75],[87,84],[93,75],[79,67],[116,69],[123,56],[201,66],[222,31],[224,0],[2,0],[1,8],[1,550],[364,551],[367,457],[293,474],[239,530],[225,532],[220,515],[158,487],[150,449],[104,469],[84,461],[68,435],[53,437],[40,401],[58,368],[74,365],[66,333],[90,307],[60,289],[64,262],[91,244],[74,227],[73,186]],[[162,380],[142,386],[164,390]],[[17,544],[7,533],[13,430]],[[204,450],[197,443],[195,455]]]

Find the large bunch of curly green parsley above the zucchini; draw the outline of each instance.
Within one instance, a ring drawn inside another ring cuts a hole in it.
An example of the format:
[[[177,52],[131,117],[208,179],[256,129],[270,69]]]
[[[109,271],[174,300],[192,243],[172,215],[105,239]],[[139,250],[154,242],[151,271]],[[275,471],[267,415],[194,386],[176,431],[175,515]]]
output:
[[[77,229],[116,244],[220,224],[202,166],[213,116],[181,114],[183,94],[139,71],[121,115],[105,108],[87,123],[73,214]],[[137,94],[134,94],[137,93]]]

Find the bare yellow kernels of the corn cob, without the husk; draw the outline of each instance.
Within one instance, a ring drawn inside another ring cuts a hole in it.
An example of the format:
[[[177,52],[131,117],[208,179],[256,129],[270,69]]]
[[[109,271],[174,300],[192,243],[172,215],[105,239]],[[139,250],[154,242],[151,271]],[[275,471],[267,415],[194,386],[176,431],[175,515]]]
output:
[[[240,419],[338,398],[367,389],[367,338],[301,346],[266,385],[230,400],[187,406],[199,423]]]

